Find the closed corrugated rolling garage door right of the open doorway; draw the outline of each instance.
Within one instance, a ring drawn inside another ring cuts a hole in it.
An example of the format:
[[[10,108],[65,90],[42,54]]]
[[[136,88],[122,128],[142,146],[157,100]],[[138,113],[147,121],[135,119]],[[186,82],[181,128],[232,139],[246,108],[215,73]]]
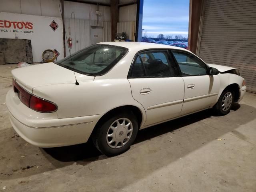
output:
[[[256,93],[256,0],[206,0],[198,55],[239,69]]]

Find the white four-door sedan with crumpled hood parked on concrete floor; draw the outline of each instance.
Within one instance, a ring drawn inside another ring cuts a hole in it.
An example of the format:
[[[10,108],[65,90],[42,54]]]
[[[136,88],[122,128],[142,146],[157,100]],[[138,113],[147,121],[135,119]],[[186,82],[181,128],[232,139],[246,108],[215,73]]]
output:
[[[236,68],[141,42],[94,44],[12,76],[6,105],[24,140],[44,148],[92,138],[108,156],[128,150],[140,129],[209,108],[228,114],[246,92]]]

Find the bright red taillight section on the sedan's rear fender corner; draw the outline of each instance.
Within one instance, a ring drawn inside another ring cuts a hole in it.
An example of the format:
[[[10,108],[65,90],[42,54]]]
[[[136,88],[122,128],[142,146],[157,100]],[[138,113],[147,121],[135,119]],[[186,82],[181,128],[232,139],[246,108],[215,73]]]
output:
[[[54,112],[57,110],[56,104],[44,100],[42,98],[38,98],[34,95],[31,96],[30,102],[29,102],[29,107],[35,111],[38,112]]]

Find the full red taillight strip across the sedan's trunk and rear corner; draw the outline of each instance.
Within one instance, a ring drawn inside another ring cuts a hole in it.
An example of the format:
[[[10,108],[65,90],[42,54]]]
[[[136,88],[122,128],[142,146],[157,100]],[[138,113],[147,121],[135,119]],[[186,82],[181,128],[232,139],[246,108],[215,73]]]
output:
[[[15,93],[18,93],[20,101],[29,108],[43,113],[55,112],[58,108],[53,102],[39,98],[19,86],[14,79],[12,80],[12,86]]]

